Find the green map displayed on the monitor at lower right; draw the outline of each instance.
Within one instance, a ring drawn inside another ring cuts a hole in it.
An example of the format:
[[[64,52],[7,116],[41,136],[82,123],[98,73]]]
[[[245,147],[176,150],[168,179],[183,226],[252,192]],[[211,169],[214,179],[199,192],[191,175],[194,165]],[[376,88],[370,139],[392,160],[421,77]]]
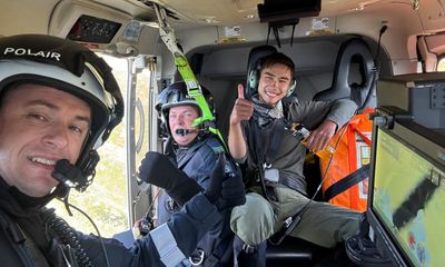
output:
[[[414,266],[445,266],[444,168],[379,128],[372,205]]]

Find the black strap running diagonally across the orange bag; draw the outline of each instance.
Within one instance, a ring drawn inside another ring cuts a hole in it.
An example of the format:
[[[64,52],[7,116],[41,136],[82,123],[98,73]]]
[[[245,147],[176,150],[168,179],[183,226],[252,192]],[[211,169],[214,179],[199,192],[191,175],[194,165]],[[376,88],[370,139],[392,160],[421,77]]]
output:
[[[349,187],[363,181],[364,179],[369,177],[369,165],[364,165],[359,169],[349,174],[342,180],[336,181],[334,185],[328,187],[324,194],[325,201],[329,201],[329,199],[336,197],[337,195],[344,192]]]

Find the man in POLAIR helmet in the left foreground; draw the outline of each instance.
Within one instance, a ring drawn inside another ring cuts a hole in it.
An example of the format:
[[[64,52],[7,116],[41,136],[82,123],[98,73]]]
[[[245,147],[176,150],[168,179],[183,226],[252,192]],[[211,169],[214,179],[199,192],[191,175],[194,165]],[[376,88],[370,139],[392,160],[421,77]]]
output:
[[[214,202],[222,196],[222,169],[208,190],[129,249],[76,231],[44,208],[92,182],[96,149],[122,115],[111,70],[90,50],[50,36],[0,39],[1,266],[174,266],[220,221]]]

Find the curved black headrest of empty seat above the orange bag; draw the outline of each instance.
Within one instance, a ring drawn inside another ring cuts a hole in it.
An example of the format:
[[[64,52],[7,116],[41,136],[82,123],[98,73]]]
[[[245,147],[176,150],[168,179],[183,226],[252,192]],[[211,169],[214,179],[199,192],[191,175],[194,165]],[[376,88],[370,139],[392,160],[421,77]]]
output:
[[[353,66],[358,65],[360,83],[349,83]],[[375,63],[368,44],[360,38],[352,38],[338,50],[330,88],[317,92],[314,100],[352,99],[358,110],[375,106]]]

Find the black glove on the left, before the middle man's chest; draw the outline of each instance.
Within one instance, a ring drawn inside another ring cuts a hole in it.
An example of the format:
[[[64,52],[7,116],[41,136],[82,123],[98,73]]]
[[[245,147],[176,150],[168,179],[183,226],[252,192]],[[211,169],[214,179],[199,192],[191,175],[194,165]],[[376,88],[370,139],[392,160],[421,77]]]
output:
[[[149,151],[139,167],[144,181],[166,189],[166,192],[182,206],[202,190],[198,182],[179,170],[165,155]]]

